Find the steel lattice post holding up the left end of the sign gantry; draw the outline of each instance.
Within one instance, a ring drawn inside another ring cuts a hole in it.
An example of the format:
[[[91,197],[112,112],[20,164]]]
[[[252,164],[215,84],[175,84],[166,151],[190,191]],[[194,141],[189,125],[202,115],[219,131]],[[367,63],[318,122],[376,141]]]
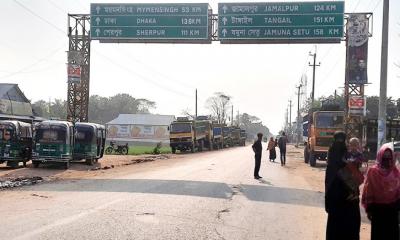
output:
[[[68,64],[81,66],[80,83],[68,82],[67,120],[87,122],[90,82],[90,15],[68,14],[69,52],[78,52],[80,61],[68,58]]]

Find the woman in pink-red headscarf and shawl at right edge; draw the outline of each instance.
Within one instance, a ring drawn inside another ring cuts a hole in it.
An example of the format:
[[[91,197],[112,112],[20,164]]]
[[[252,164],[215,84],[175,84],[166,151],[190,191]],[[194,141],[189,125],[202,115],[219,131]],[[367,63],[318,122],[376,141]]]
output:
[[[399,240],[400,172],[388,146],[368,170],[362,204],[371,220],[371,240]]]

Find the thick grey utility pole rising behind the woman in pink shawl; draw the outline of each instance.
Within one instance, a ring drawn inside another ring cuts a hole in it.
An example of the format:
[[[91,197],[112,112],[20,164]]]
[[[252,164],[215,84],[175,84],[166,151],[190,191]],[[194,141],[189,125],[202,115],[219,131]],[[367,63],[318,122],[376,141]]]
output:
[[[378,116],[378,148],[386,140],[386,101],[387,101],[387,62],[388,62],[388,33],[389,33],[389,0],[383,1],[382,21],[382,51],[381,51],[381,82],[379,94]]]

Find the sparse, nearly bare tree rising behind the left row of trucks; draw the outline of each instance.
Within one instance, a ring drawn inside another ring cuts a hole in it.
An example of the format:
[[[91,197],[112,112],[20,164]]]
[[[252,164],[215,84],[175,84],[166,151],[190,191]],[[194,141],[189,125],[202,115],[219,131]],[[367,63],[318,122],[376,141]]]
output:
[[[206,108],[211,111],[212,118],[218,123],[226,123],[230,107],[231,97],[222,92],[214,93],[214,96],[206,101]]]

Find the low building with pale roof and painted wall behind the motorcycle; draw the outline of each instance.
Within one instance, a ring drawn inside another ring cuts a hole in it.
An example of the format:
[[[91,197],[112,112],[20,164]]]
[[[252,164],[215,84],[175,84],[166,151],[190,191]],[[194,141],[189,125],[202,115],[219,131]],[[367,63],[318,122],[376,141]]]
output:
[[[169,144],[169,125],[175,120],[173,115],[119,114],[108,122],[107,141],[118,143],[154,145]]]

